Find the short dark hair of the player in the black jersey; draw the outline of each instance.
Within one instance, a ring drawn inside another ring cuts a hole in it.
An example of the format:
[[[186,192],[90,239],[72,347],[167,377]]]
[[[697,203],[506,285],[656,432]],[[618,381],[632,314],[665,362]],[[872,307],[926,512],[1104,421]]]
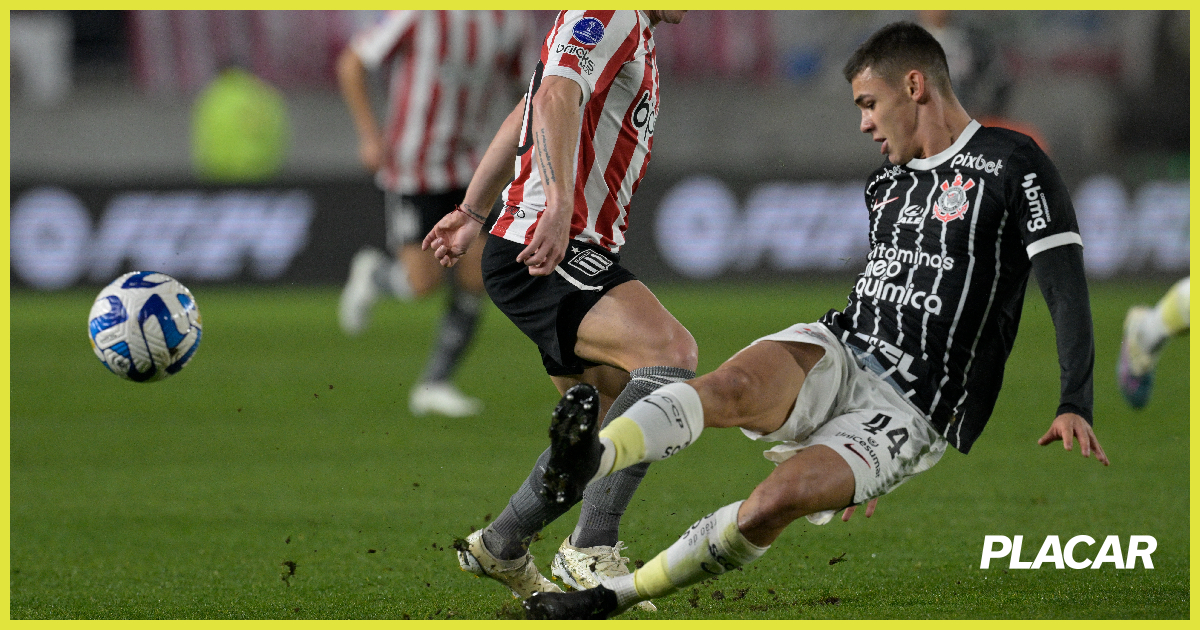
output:
[[[946,50],[929,31],[911,22],[894,22],[875,31],[850,55],[841,73],[853,82],[866,68],[889,83],[918,70],[943,95],[952,94]]]

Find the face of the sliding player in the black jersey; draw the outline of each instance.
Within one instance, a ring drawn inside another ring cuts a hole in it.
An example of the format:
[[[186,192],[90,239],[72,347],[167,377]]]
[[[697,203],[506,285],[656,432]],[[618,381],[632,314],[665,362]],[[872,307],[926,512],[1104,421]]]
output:
[[[888,156],[889,162],[904,164],[914,157],[924,157],[916,139],[917,102],[904,86],[886,80],[868,67],[850,82],[850,88],[854,94],[854,104],[863,114],[859,131],[882,143],[880,152]]]

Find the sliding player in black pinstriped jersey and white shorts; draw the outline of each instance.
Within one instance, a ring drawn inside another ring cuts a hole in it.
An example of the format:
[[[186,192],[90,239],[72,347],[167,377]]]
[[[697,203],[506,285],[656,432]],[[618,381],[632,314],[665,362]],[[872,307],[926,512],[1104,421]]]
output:
[[[529,598],[530,618],[605,618],[667,595],[754,560],[802,516],[821,524],[845,509],[847,520],[864,502],[870,516],[880,496],[934,466],[947,444],[967,452],[1000,392],[1031,270],[1062,372],[1061,402],[1038,444],[1070,450],[1078,440],[1085,457],[1109,463],[1092,431],[1082,245],[1050,160],[1028,137],[971,119],[941,46],[920,26],[881,29],[845,76],[860,130],[888,160],[868,180],[871,248],[846,308],[656,390],[602,431],[578,402],[593,395],[582,385],[569,392],[551,427],[545,491],[571,498],[590,480],[678,452],[704,427],[780,442],[767,451],[776,468],[631,575]]]

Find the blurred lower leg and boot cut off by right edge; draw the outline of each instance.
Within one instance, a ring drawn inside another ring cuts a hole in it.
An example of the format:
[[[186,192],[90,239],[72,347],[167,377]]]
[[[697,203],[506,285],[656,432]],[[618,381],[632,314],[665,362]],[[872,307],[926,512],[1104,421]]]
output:
[[[1126,402],[1141,409],[1154,386],[1154,366],[1166,341],[1190,330],[1192,277],[1176,282],[1153,307],[1133,306],[1126,312],[1117,385]]]

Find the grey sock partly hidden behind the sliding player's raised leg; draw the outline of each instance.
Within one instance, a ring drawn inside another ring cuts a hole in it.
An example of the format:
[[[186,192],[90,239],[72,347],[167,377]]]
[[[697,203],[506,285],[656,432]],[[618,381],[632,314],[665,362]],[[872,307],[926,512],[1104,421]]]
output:
[[[625,385],[624,391],[613,401],[608,414],[605,415],[606,425],[662,385],[696,378],[696,373],[691,370],[665,366],[634,370],[629,376],[631,377],[629,385]],[[617,544],[620,517],[625,514],[625,508],[629,506],[634,491],[642,482],[649,466],[649,463],[634,464],[588,486],[583,492],[580,522],[571,534],[572,545],[611,547]]]

